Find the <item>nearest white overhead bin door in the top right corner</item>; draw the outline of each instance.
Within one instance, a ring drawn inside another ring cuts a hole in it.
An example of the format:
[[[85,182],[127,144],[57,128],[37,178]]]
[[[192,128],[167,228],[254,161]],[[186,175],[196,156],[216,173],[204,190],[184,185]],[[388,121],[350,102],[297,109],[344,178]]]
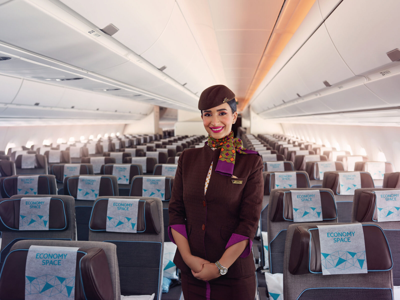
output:
[[[354,74],[397,64],[386,53],[400,47],[399,11],[400,1],[344,0],[326,19],[330,38]]]

